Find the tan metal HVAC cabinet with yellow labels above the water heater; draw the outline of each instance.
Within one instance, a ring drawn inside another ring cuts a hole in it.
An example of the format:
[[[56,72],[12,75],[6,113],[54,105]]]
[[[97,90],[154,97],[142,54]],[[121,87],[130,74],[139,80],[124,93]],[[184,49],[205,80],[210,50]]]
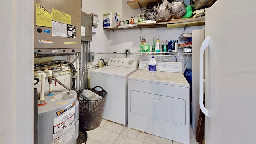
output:
[[[81,52],[81,0],[34,0],[34,51]]]

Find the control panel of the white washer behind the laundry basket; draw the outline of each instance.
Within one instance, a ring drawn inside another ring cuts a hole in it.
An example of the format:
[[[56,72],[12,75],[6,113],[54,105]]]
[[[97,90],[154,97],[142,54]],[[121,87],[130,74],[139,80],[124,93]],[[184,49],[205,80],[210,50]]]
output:
[[[138,60],[136,58],[110,58],[108,66],[138,68]]]

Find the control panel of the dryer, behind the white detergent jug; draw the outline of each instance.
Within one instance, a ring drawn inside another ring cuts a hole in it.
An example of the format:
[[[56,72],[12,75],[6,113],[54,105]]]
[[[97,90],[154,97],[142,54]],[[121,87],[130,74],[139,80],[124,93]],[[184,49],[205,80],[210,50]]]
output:
[[[139,70],[148,70],[148,62],[140,60]],[[182,73],[181,62],[156,62],[156,71]]]

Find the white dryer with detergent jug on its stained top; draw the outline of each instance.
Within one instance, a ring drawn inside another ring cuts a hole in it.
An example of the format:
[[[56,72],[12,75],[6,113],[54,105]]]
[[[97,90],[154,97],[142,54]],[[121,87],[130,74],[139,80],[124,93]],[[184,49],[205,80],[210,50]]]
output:
[[[148,61],[128,76],[128,127],[189,144],[189,83],[180,62]]]

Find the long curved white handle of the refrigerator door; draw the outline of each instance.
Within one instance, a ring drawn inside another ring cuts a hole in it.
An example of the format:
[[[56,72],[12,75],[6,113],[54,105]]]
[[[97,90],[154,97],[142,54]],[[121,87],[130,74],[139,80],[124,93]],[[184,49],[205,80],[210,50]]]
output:
[[[209,46],[209,36],[204,39],[199,54],[199,106],[205,116],[209,117],[209,110],[204,107],[204,51]]]

